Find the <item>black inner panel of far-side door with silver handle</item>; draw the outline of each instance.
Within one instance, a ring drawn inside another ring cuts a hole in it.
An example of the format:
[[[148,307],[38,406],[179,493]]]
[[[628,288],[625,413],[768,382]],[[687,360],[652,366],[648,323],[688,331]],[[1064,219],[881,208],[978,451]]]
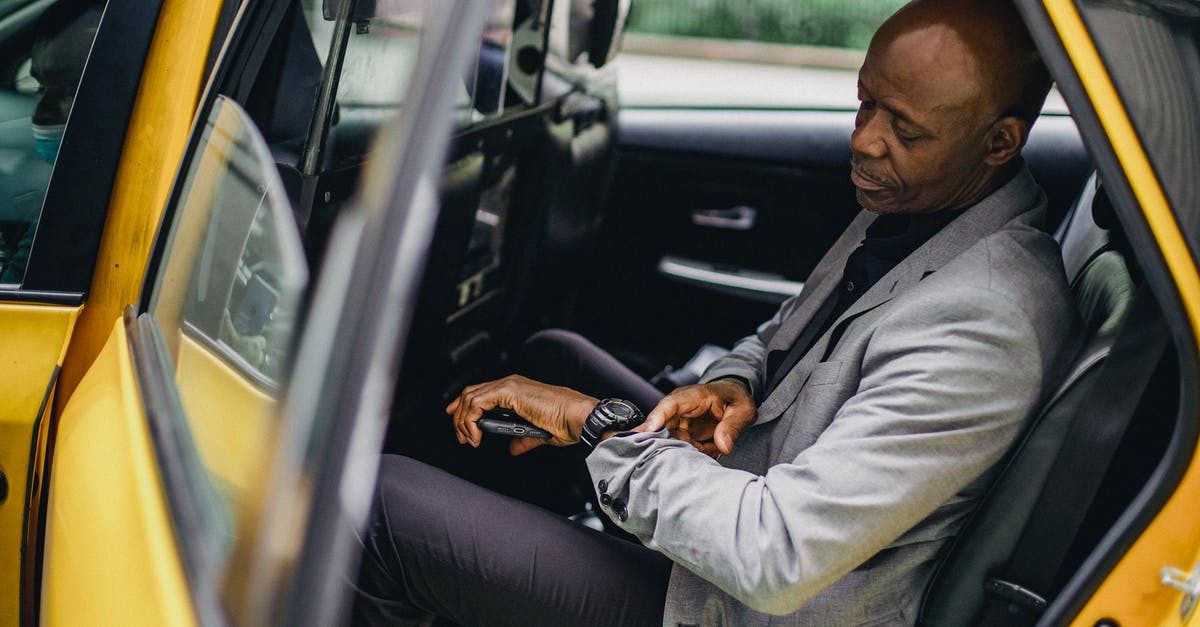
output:
[[[629,245],[610,257],[613,271],[584,307],[584,330],[678,363],[769,317],[859,209],[848,177],[853,119],[848,111],[623,109],[604,239]],[[1070,118],[1042,117],[1025,154],[1054,223],[1090,168]]]

